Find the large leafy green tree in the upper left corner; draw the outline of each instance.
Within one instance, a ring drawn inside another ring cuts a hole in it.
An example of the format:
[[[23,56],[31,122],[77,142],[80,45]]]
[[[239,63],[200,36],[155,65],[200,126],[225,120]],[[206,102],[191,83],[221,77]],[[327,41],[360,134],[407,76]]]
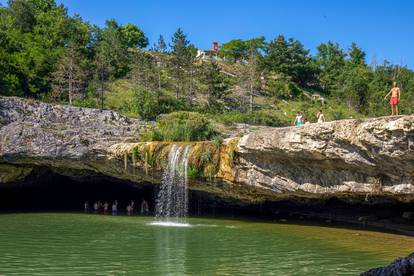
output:
[[[55,71],[67,39],[63,36],[68,20],[66,10],[52,0],[14,0],[2,10],[1,40],[7,56],[7,94],[39,97],[51,89]],[[13,89],[13,90],[9,90]]]

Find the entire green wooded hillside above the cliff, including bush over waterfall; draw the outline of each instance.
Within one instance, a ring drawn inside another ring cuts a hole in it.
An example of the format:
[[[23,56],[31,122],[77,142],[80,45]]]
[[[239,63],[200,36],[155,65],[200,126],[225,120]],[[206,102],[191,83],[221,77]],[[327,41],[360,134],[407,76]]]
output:
[[[108,20],[100,28],[54,0],[0,6],[0,38],[1,95],[160,117],[148,140],[214,137],[192,112],[224,124],[269,126],[291,125],[297,111],[310,122],[319,109],[327,120],[387,115],[383,97],[393,81],[402,90],[400,111],[414,112],[414,72],[388,62],[368,65],[355,43],[343,49],[328,41],[311,55],[283,35],[234,39],[200,59],[181,29],[170,43],[160,36],[148,48],[139,27]],[[163,115],[179,111],[187,113]],[[195,118],[183,123],[177,114]]]

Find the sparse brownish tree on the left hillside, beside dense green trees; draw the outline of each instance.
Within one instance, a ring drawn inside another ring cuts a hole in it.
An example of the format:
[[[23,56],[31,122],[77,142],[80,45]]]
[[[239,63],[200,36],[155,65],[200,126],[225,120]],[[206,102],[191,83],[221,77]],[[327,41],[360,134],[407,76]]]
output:
[[[76,93],[84,87],[85,72],[80,66],[77,49],[69,45],[61,57],[58,69],[53,73],[55,95],[68,94],[69,105]]]

